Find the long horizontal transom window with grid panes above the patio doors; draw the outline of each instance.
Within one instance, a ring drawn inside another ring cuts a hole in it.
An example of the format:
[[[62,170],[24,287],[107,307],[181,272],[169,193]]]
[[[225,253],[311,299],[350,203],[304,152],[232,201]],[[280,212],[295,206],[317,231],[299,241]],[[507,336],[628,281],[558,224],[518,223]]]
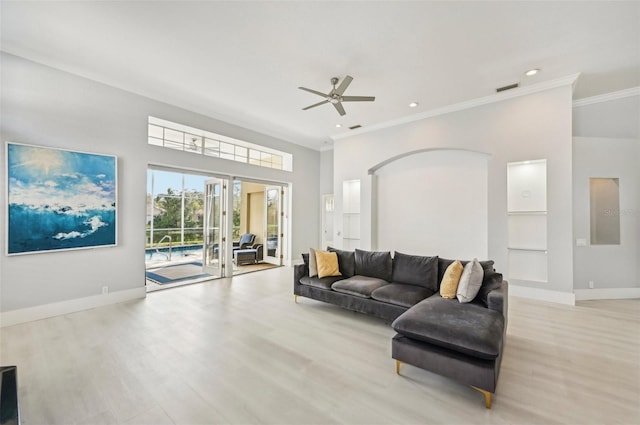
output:
[[[293,155],[243,140],[149,117],[149,144],[229,161],[293,170]]]

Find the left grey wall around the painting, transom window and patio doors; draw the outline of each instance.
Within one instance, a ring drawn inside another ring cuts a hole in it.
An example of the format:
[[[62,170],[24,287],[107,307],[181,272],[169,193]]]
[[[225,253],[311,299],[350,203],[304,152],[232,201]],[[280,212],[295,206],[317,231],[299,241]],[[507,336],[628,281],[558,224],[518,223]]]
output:
[[[143,289],[148,164],[291,182],[292,251],[317,245],[319,152],[16,56],[1,59],[2,141],[117,155],[119,199],[117,247],[7,257],[2,223],[0,312],[97,296],[105,285],[112,293]],[[293,173],[150,146],[149,115],[290,152]],[[4,155],[3,146],[3,179]]]

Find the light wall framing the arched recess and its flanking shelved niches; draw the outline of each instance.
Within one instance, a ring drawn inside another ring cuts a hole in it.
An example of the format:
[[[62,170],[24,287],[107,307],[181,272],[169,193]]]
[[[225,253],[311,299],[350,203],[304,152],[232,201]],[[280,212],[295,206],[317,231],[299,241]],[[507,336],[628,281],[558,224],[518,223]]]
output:
[[[508,275],[506,165],[513,161],[547,159],[549,281],[528,285],[534,289],[572,293],[573,217],[571,197],[568,196],[572,189],[571,97],[572,88],[567,83],[538,93],[337,140],[334,148],[336,210],[339,212],[342,208],[342,182],[360,179],[361,246],[370,247],[369,168],[397,155],[426,148],[485,152],[491,155],[488,162],[488,256],[496,261],[497,270]],[[337,213],[336,229],[341,226],[342,217]],[[426,239],[429,233],[425,229],[414,237]],[[378,248],[386,249],[384,246]]]

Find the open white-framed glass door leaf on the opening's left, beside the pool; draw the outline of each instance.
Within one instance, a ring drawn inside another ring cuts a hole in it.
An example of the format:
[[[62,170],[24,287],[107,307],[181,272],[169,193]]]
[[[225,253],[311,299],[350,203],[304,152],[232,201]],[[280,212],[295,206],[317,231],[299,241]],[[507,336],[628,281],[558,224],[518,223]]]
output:
[[[221,179],[205,182],[204,244],[202,270],[214,276],[222,276],[225,258],[225,201]]]

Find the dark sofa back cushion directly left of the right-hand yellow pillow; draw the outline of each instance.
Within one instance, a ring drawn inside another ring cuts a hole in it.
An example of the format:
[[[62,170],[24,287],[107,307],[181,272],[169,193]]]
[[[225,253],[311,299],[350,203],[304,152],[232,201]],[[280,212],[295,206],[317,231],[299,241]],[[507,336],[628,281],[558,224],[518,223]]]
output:
[[[393,254],[391,281],[438,290],[438,256],[423,257],[396,251]]]

